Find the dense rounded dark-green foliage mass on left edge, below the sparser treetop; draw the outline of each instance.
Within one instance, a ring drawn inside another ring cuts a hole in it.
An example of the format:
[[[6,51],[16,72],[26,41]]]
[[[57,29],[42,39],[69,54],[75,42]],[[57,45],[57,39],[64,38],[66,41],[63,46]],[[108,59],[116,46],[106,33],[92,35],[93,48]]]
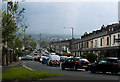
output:
[[[16,32],[17,26],[11,14],[2,13],[2,39],[3,43],[8,42],[9,38]]]

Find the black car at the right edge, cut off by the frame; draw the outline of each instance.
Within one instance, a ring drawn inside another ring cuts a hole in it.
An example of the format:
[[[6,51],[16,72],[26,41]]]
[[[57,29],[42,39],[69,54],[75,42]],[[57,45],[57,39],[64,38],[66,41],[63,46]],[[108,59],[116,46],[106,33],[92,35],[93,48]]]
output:
[[[117,74],[120,71],[120,58],[106,57],[97,61],[90,66],[91,73],[96,72],[111,72],[111,74]]]

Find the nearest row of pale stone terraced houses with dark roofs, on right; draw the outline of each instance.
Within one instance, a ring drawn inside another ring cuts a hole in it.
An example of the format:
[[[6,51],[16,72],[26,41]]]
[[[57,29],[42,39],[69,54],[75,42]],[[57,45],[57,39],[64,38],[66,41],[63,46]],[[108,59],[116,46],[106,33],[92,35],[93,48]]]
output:
[[[100,30],[85,33],[80,40],[74,42],[74,55],[93,52],[97,56],[120,57],[120,24],[102,26]]]

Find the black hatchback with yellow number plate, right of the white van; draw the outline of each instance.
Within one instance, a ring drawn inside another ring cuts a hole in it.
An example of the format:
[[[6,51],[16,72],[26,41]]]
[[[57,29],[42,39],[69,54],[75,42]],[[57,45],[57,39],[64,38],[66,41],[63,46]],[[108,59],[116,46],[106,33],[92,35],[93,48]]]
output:
[[[62,70],[64,70],[65,68],[73,68],[74,70],[77,70],[79,68],[79,69],[85,69],[87,71],[88,64],[89,61],[87,59],[69,58],[61,64],[61,68]]]

